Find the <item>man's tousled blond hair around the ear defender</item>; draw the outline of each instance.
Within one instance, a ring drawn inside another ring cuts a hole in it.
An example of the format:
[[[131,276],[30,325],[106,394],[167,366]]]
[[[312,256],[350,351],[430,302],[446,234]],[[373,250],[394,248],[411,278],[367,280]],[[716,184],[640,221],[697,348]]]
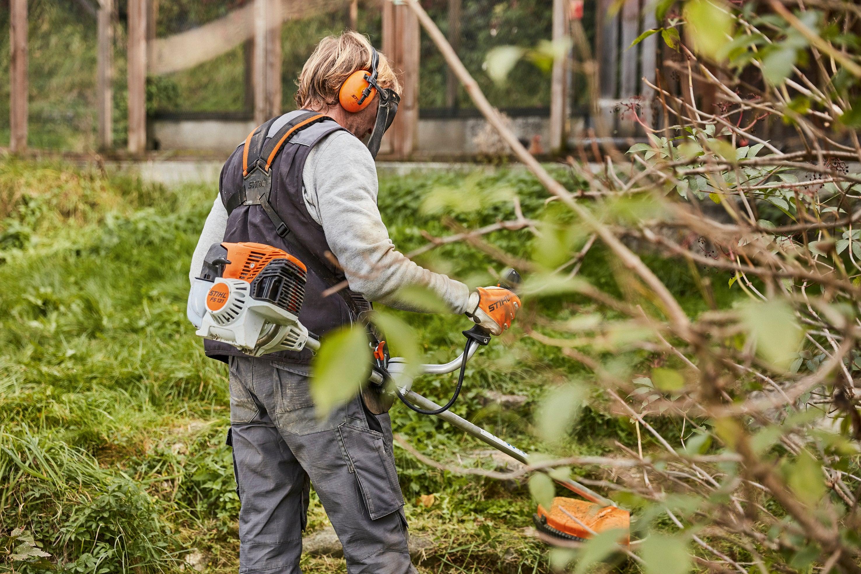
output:
[[[382,52],[378,53],[377,83],[381,88],[400,92],[400,82],[392,66]],[[302,66],[296,83],[299,86],[294,97],[296,105],[313,109],[334,106],[338,103],[338,89],[344,80],[354,71],[370,69],[371,43],[368,38],[352,30],[339,36],[326,36]]]

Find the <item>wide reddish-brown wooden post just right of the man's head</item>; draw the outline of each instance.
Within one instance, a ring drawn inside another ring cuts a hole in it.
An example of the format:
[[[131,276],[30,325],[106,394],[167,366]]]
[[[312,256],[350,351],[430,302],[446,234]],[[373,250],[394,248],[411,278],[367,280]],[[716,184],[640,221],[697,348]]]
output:
[[[418,133],[418,16],[406,4],[382,5],[382,51],[398,75],[400,105],[392,127],[383,139],[381,151],[394,157],[409,157]]]

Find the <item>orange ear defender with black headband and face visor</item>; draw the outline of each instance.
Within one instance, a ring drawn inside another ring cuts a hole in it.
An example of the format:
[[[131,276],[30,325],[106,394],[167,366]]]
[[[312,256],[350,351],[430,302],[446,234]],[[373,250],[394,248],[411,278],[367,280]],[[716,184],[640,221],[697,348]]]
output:
[[[370,102],[374,101],[374,96],[380,95],[377,98],[379,103],[377,104],[374,130],[368,140],[368,149],[373,157],[376,157],[377,152],[380,151],[382,134],[386,133],[388,127],[392,125],[394,114],[397,114],[400,103],[400,96],[396,91],[391,88],[381,88],[377,84],[379,73],[377,66],[379,64],[380,54],[377,53],[374,46],[371,46],[370,74],[367,70],[354,71],[341,84],[341,89],[338,89],[338,102],[341,103],[342,108],[352,113],[367,108]]]

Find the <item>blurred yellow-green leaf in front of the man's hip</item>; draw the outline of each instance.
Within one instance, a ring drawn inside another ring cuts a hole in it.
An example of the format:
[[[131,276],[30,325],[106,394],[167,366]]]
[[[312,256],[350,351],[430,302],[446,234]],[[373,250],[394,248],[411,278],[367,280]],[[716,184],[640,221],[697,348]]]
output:
[[[368,335],[359,326],[331,331],[314,355],[311,397],[319,419],[356,396],[370,372]]]

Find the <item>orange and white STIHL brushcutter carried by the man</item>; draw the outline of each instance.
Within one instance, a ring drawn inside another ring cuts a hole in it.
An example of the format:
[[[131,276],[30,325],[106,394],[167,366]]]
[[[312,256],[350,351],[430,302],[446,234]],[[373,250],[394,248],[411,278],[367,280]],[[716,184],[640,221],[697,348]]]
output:
[[[299,351],[306,347],[316,351],[320,345],[318,337],[309,333],[298,318],[306,275],[302,262],[269,245],[214,244],[189,293],[189,319],[198,328],[197,335],[230,343],[251,356],[281,350]],[[509,269],[499,286],[516,288],[519,281],[517,272]],[[417,375],[408,373],[404,359],[387,356],[385,342],[372,345],[374,361],[370,384],[384,389],[383,392],[394,393],[410,409],[435,415],[529,465],[529,454],[449,410],[461,391],[467,362],[479,347],[491,340],[478,325],[464,330],[463,335],[467,342],[460,356],[443,364],[420,365],[413,369]],[[453,373],[458,369],[455,392],[443,406],[412,390],[414,376]],[[627,544],[630,525],[627,510],[616,507],[610,499],[571,478],[554,478],[554,481],[585,500],[554,497],[549,509],[539,504],[533,515],[536,528],[559,540],[585,540],[599,532],[618,528],[624,533],[620,534],[620,541]]]

